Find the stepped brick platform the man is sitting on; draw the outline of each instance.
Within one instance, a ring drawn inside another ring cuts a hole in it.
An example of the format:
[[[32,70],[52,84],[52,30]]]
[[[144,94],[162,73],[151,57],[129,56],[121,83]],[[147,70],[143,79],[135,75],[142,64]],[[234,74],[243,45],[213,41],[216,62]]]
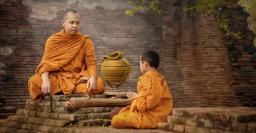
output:
[[[70,109],[65,104],[71,97],[108,98],[105,95],[56,95],[44,96],[40,102],[27,100],[24,110],[7,121],[0,121],[5,128],[0,132],[63,132],[66,128],[109,126],[110,111],[114,107]]]

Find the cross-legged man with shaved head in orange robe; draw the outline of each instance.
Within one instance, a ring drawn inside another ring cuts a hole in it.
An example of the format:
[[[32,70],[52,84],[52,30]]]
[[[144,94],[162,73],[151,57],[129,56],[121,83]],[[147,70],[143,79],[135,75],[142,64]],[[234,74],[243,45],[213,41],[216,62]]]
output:
[[[64,29],[48,38],[41,63],[28,81],[34,100],[43,95],[100,94],[105,83],[96,77],[93,42],[79,33],[80,16],[75,10],[64,12]]]

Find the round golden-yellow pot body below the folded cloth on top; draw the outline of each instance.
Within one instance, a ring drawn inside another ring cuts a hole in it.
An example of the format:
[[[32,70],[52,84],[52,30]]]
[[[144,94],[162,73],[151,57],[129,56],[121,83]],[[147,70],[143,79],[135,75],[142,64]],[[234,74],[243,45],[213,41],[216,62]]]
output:
[[[118,87],[123,85],[127,80],[131,65],[126,59],[104,60],[100,66],[102,78],[110,85],[110,87]]]

